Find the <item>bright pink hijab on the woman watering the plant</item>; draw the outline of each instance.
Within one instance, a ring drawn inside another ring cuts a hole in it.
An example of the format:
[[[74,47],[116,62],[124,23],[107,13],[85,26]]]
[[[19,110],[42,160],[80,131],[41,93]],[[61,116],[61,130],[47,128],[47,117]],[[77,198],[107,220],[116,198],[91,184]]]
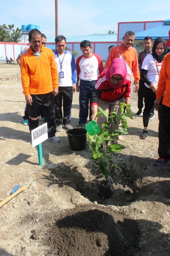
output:
[[[121,75],[123,77],[123,80],[118,86],[114,86],[113,84],[111,84],[110,80],[112,76],[117,74]],[[112,60],[109,68],[105,71],[105,76],[111,87],[120,88],[122,85],[125,84],[125,80],[127,78],[127,68],[125,61],[121,58],[115,58],[114,60]]]

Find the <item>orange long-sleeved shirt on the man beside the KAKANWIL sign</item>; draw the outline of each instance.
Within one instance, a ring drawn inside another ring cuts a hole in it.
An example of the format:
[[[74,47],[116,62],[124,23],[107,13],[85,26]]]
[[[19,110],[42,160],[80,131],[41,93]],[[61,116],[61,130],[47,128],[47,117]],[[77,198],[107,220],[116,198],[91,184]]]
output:
[[[31,47],[21,56],[21,80],[23,93],[45,94],[59,87],[58,72],[53,51],[41,46],[41,54],[37,58]]]

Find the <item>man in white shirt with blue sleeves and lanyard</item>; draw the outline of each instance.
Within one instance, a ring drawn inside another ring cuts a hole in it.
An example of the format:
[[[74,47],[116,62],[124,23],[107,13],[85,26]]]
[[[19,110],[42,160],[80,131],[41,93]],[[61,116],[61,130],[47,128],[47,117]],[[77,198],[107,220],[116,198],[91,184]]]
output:
[[[57,50],[54,52],[55,62],[59,76],[59,94],[54,98],[56,130],[61,132],[62,125],[66,130],[72,129],[70,125],[70,112],[73,92],[76,91],[76,62],[72,52],[65,50],[66,38],[55,38]],[[63,102],[63,112],[62,112]]]

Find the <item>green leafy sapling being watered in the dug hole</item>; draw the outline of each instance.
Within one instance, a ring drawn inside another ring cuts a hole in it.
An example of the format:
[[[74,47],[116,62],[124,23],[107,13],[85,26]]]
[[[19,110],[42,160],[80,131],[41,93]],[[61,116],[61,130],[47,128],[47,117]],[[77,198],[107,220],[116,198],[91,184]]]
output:
[[[124,113],[125,107],[127,111],[126,113]],[[117,166],[117,164],[113,162],[110,153],[119,153],[124,148],[126,148],[122,144],[109,144],[109,142],[117,140],[115,139],[115,136],[117,135],[123,135],[128,133],[129,127],[127,125],[127,117],[133,119],[132,116],[135,116],[135,114],[131,112],[130,105],[125,103],[120,103],[120,115],[116,114],[115,111],[108,114],[100,107],[99,110],[100,111],[97,113],[96,117],[102,114],[106,116],[107,122],[104,122],[102,124],[102,129],[98,134],[95,134],[93,138],[87,132],[87,139],[89,148],[90,150],[92,150],[91,159],[94,160],[94,162],[98,165],[100,172],[107,180],[111,168],[113,166],[119,168],[119,166]],[[109,116],[110,114],[112,116]],[[114,130],[112,132],[109,128],[110,124],[111,122],[114,122],[114,124],[117,126],[117,118],[121,120],[121,127],[120,129]],[[103,148],[101,148],[101,146],[103,146]],[[121,169],[119,168],[119,170]]]

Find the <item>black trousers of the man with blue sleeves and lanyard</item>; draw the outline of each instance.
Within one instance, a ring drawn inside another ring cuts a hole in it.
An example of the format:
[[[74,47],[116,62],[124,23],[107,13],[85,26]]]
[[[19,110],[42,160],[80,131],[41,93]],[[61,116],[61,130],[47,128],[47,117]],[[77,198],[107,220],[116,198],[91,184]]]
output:
[[[59,94],[54,97],[55,121],[57,126],[62,123],[63,125],[70,124],[72,95],[72,86],[59,86]]]

